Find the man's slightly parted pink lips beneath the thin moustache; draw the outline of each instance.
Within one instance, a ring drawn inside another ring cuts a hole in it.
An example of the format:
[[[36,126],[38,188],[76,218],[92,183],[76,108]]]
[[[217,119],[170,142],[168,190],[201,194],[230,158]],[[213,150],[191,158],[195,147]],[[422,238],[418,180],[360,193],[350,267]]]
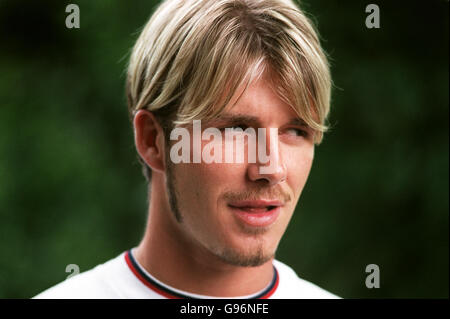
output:
[[[248,226],[267,227],[277,220],[283,204],[278,200],[246,200],[233,202],[228,206],[234,215]]]

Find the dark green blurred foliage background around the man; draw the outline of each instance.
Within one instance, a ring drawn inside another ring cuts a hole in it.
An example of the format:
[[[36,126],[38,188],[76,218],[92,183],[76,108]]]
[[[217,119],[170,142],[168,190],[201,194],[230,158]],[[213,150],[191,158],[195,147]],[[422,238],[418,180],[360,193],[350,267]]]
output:
[[[125,68],[155,1],[0,0],[0,297],[29,298],[138,244],[146,183]],[[333,129],[277,258],[344,298],[448,298],[448,1],[308,0]],[[379,289],[365,286],[377,264]]]

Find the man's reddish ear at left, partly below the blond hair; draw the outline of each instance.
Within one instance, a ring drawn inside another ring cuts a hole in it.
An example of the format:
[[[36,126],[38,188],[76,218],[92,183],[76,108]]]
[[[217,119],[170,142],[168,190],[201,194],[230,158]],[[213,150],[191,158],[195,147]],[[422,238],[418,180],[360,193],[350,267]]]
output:
[[[163,172],[164,131],[153,113],[139,110],[134,115],[134,141],[142,160],[153,170]]]

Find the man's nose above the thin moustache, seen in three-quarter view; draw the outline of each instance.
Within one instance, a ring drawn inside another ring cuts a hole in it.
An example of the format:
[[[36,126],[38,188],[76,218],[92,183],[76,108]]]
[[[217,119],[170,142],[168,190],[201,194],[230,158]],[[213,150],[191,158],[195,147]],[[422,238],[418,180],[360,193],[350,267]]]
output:
[[[257,150],[256,163],[249,163],[248,166],[249,179],[265,180],[271,186],[285,181],[287,168],[280,148],[278,130],[270,129],[269,134],[259,131]]]

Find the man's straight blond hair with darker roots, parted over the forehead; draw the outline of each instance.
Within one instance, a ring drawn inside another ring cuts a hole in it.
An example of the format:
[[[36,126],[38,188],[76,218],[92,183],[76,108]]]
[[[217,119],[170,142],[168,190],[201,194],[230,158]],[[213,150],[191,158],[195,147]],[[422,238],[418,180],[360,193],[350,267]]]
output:
[[[292,1],[163,1],[131,54],[130,118],[147,109],[165,130],[210,119],[262,73],[319,144],[330,108],[329,66],[312,23]]]

